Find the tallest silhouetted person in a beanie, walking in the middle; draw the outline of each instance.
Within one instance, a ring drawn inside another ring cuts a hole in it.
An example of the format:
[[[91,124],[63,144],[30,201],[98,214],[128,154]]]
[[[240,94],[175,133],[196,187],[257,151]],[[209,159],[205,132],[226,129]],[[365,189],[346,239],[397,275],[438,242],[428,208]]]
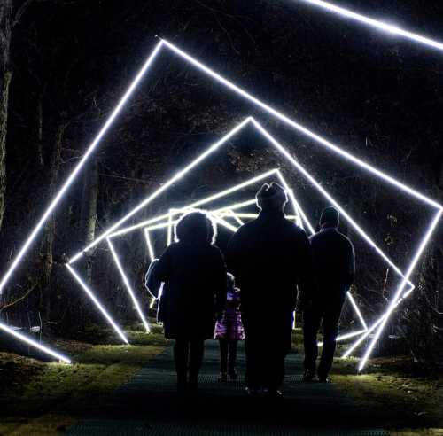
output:
[[[313,283],[312,257],[305,230],[284,215],[284,188],[264,184],[256,200],[258,218],[237,230],[226,259],[242,300],[246,391],[277,398],[291,349],[297,290],[309,293]]]

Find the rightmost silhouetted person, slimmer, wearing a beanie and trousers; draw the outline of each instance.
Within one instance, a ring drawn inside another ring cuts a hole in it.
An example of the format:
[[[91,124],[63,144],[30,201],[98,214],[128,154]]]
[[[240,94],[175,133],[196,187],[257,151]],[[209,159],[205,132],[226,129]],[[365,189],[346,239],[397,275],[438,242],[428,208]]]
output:
[[[335,207],[323,209],[321,230],[310,238],[314,260],[315,292],[304,295],[303,335],[305,344],[305,381],[315,375],[328,381],[338,334],[338,321],[346,299],[346,292],[354,281],[354,245],[338,231],[340,216]],[[318,355],[317,333],[323,322],[322,357],[316,368]]]

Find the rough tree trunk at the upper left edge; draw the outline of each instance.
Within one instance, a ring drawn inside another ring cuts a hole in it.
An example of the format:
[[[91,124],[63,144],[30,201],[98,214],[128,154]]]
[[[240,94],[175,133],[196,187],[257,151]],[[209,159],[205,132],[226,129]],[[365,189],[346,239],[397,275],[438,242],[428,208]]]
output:
[[[6,136],[8,134],[12,0],[0,2],[0,229],[4,218],[6,194]]]

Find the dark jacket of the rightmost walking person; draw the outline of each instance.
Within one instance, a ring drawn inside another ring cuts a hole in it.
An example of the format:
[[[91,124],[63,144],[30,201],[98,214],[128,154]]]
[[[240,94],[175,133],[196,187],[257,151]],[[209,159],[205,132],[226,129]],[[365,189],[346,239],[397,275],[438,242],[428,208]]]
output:
[[[310,241],[317,282],[313,300],[344,300],[354,281],[354,245],[335,227],[320,230]]]

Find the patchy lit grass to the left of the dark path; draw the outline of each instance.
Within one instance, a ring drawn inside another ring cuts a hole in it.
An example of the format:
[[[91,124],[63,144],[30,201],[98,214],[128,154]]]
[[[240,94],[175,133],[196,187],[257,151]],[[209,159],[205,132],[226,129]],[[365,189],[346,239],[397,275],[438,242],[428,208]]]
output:
[[[102,344],[64,341],[72,365],[0,353],[0,436],[63,432],[110,401],[167,345],[158,327],[150,335],[126,333],[131,346],[107,345],[106,335]]]

